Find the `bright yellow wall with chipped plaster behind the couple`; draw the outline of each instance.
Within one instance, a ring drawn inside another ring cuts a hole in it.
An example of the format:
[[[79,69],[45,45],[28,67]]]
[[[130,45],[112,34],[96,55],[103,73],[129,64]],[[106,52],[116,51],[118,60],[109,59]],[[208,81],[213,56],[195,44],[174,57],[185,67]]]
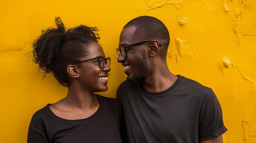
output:
[[[126,79],[117,63],[119,34],[132,18],[151,15],[169,29],[168,66],[211,87],[228,131],[224,143],[256,143],[255,0],[1,0],[0,142],[25,143],[31,116],[65,97],[52,75],[43,80],[32,62],[31,43],[59,16],[67,28],[97,26],[112,58],[109,90]]]

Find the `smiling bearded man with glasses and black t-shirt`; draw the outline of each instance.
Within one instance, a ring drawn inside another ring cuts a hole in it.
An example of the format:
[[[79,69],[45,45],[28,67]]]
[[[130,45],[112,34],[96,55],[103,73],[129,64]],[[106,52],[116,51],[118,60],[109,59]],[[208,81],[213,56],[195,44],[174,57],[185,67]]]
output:
[[[130,143],[222,143],[227,131],[213,90],[181,75],[166,63],[170,37],[157,18],[141,16],[120,34],[117,61],[127,80],[117,99]]]

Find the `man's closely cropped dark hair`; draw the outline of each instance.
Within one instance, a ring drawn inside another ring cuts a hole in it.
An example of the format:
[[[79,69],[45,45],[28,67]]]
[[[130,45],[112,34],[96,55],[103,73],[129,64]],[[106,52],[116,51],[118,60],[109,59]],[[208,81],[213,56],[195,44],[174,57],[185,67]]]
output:
[[[168,29],[162,21],[152,16],[140,16],[132,19],[128,22],[124,28],[129,26],[135,26],[136,31],[133,35],[133,39],[143,40],[157,40],[166,52],[170,43],[170,35]]]

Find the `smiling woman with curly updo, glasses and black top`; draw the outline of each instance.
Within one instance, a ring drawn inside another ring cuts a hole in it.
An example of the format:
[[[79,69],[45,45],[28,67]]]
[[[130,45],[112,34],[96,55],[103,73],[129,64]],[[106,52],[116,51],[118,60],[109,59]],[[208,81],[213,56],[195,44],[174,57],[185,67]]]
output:
[[[121,143],[122,113],[116,99],[95,95],[108,90],[110,57],[98,43],[97,27],[80,25],[42,31],[34,41],[34,62],[52,72],[67,96],[47,104],[32,117],[28,143]],[[124,141],[126,142],[126,141]]]

